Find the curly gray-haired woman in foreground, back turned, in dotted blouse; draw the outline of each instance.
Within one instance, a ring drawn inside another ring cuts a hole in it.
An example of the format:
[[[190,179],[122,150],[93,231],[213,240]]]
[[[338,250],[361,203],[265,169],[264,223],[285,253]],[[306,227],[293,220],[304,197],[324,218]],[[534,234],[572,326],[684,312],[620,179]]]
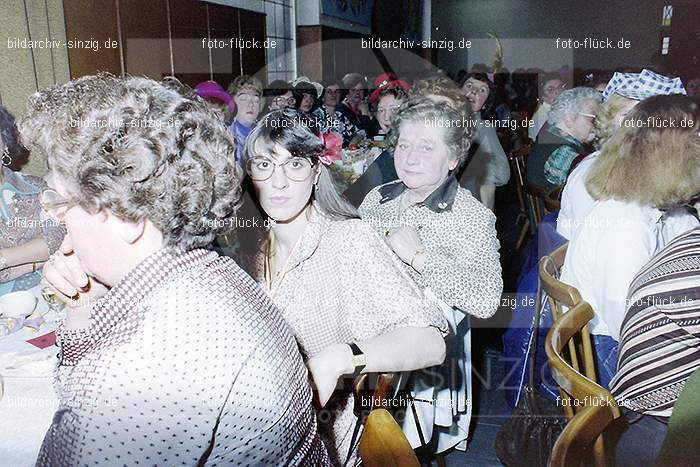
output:
[[[21,128],[67,229],[44,269],[69,311],[37,465],[328,465],[282,317],[206,249],[240,197],[206,103],[174,79],[88,76],[32,96]]]

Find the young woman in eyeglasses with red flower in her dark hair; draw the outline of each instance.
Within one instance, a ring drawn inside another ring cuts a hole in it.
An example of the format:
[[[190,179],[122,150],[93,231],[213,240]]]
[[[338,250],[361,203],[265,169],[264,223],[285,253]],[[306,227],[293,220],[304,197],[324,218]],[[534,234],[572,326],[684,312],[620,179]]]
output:
[[[299,112],[272,112],[248,138],[246,169],[271,220],[251,274],[297,338],[325,406],[319,431],[333,463],[343,465],[355,458],[357,419],[352,396],[333,394],[338,380],[438,365],[447,327],[336,192],[327,165],[337,157],[337,139]]]

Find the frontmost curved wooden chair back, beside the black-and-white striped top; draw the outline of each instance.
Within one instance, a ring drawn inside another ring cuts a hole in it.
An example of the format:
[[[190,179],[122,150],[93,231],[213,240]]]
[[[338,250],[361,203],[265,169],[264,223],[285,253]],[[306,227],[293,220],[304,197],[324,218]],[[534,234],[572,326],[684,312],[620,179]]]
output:
[[[562,394],[569,396],[568,404],[573,408],[573,417],[552,449],[552,467],[609,465],[601,435],[613,420],[620,417],[620,408],[610,391],[576,371],[564,356],[564,347],[577,334],[585,333],[588,336],[591,318],[593,309],[581,301],[554,322],[545,340],[552,376]],[[565,400],[562,403],[567,404]],[[591,463],[589,455],[592,455],[594,463]]]

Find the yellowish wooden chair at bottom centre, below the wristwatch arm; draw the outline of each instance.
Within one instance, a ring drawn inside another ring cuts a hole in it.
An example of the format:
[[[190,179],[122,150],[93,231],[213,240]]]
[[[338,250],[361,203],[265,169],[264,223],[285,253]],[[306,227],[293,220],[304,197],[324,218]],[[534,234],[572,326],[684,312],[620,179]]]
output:
[[[373,384],[374,383],[374,384]],[[420,467],[411,443],[386,409],[391,398],[393,373],[363,374],[353,384],[355,415],[363,418],[368,405],[372,410],[366,417],[357,451],[365,467]],[[367,397],[371,403],[367,404]],[[362,400],[365,400],[365,403]]]

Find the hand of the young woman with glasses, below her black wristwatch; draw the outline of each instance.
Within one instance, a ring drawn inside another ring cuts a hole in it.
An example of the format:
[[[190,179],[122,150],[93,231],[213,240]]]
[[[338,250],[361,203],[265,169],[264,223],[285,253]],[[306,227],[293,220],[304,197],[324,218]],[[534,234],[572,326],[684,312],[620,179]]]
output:
[[[354,371],[352,367],[352,350],[347,344],[329,345],[307,362],[309,374],[313,379],[318,394],[318,402],[325,406],[333,395],[338,379]]]

